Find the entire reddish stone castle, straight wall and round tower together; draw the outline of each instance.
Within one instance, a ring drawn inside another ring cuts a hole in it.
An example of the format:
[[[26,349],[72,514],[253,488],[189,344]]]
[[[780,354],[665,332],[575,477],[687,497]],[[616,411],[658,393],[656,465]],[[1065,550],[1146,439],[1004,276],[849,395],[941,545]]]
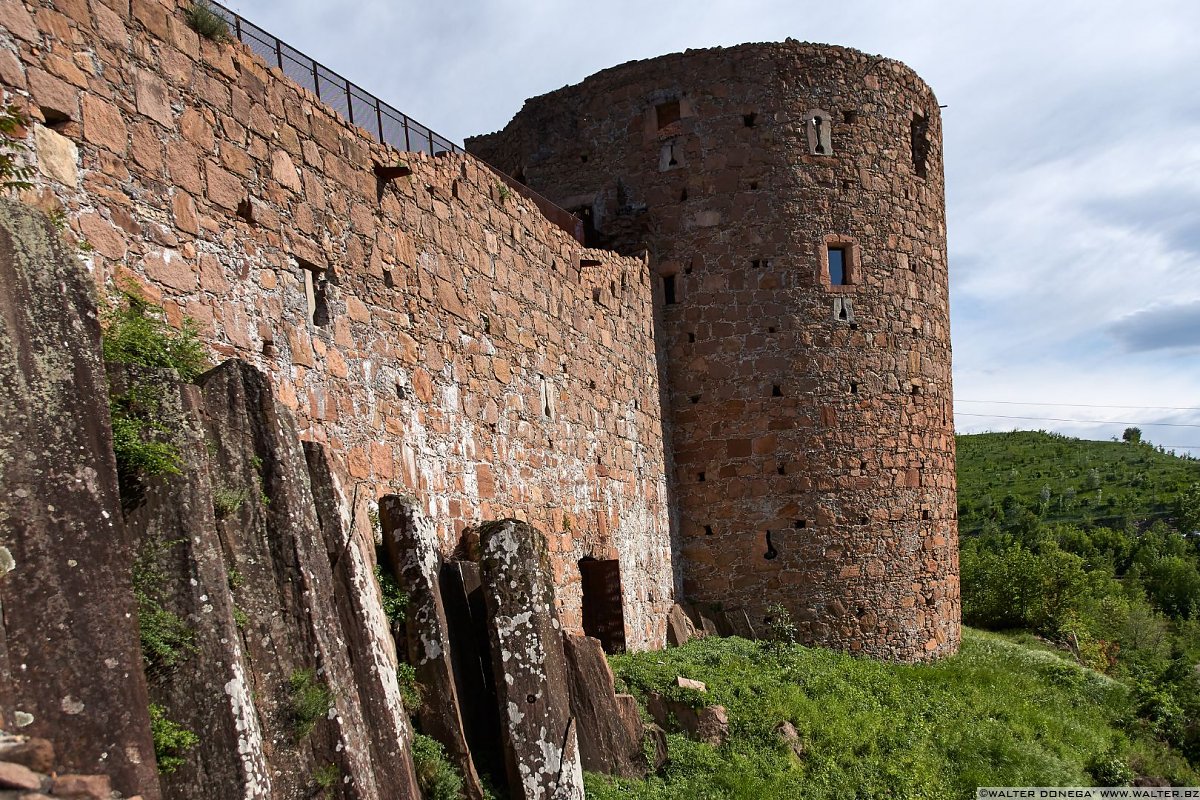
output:
[[[469,144],[600,247],[472,157],[379,145],[169,0],[5,0],[0,84],[34,120],[25,199],[66,212],[98,288],[262,369],[444,552],[487,519],[544,530],[565,630],[587,559],[619,567],[631,648],[677,596],[754,625],[782,602],[876,656],[956,648],[941,120],[902,65],[689,52]]]

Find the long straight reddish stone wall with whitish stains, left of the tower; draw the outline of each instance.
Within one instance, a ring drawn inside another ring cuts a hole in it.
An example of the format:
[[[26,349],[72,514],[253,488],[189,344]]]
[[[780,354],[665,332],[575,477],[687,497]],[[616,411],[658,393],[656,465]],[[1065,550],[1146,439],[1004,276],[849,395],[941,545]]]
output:
[[[619,559],[629,644],[662,642],[644,259],[581,248],[473,158],[378,145],[173,2],[5,0],[0,83],[97,287],[132,279],[262,368],[358,492],[415,494],[448,549],[481,519],[545,530],[569,628],[578,559]]]

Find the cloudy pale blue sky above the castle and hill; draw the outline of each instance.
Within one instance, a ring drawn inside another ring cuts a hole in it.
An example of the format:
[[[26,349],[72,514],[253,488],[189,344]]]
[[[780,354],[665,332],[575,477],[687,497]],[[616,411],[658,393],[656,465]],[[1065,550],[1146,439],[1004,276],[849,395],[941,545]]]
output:
[[[625,61],[899,59],[944,128],[956,427],[1200,456],[1200,1],[228,0],[455,140]],[[1025,419],[1037,417],[1037,419]]]

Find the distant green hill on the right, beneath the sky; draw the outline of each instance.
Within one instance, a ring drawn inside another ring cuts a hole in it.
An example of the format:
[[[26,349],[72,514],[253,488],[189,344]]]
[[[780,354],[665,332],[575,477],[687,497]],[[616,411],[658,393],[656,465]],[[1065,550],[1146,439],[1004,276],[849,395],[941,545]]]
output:
[[[1200,481],[1200,462],[1151,445],[1037,431],[960,435],[958,462],[962,534],[1010,516],[1015,506],[1045,522],[1171,522],[1182,491]]]

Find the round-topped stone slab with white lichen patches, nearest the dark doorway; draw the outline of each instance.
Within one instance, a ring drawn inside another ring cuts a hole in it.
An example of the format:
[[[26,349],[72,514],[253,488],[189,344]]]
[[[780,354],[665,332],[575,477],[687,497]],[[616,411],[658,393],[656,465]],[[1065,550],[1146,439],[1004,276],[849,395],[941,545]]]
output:
[[[517,519],[481,525],[479,536],[509,790],[515,800],[582,800],[546,539]]]

